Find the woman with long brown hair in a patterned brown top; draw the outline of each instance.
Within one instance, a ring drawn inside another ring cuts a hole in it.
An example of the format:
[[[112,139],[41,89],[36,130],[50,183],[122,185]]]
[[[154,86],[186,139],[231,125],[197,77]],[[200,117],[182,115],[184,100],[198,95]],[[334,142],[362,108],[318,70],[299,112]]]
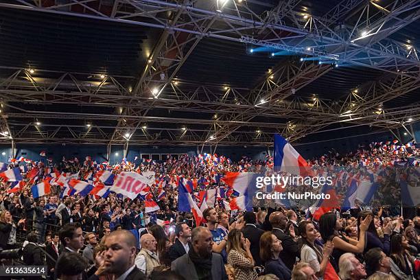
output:
[[[227,262],[235,269],[235,279],[256,280],[258,275],[255,272],[255,261],[251,255],[250,242],[244,238],[238,229],[232,229],[228,234],[226,252]]]

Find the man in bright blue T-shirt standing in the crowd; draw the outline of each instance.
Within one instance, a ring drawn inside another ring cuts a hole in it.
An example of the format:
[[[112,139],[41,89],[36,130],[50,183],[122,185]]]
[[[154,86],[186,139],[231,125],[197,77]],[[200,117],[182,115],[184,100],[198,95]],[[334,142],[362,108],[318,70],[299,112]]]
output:
[[[222,229],[216,229],[215,224],[218,222],[218,213],[215,209],[209,207],[202,212],[203,217],[207,222],[207,229],[213,235],[213,252],[219,253],[223,257],[223,261],[227,261],[226,244],[227,235],[225,235]]]

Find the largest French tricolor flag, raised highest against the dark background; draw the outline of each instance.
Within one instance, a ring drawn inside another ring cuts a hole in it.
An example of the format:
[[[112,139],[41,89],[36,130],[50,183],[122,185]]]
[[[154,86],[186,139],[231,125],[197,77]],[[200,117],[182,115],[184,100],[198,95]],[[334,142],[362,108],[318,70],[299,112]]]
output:
[[[294,150],[286,139],[278,134],[275,134],[274,166],[275,170],[279,172],[288,172],[303,177],[310,175],[310,167],[305,159]]]

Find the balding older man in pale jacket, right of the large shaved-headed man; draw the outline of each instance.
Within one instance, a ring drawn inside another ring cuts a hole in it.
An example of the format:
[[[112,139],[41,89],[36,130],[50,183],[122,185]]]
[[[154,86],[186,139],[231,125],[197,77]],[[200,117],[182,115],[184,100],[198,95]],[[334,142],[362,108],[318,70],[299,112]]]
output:
[[[150,275],[153,268],[161,265],[156,255],[156,243],[156,239],[150,233],[143,234],[140,237],[141,250],[137,254],[135,264],[146,275]]]

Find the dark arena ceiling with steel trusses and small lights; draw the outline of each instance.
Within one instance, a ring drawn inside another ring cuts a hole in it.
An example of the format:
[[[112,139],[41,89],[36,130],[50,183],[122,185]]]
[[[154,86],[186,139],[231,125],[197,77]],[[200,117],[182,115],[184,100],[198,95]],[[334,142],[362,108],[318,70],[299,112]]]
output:
[[[419,26],[420,0],[0,0],[0,141],[412,134]]]

